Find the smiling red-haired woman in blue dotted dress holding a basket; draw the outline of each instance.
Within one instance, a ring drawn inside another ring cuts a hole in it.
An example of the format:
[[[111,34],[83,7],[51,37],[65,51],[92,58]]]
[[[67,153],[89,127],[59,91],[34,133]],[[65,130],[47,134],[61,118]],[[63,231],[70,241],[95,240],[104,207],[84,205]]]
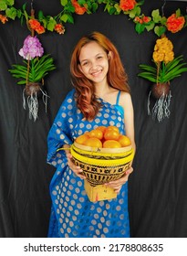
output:
[[[118,193],[117,198],[93,203],[84,189],[85,176],[68,152],[80,134],[101,125],[119,127],[135,150],[127,74],[117,49],[99,32],[78,41],[70,71],[75,89],[63,101],[47,138],[47,163],[57,167],[50,184],[48,237],[130,237],[127,181],[132,167],[125,176],[107,184]],[[60,147],[67,150],[57,151]]]

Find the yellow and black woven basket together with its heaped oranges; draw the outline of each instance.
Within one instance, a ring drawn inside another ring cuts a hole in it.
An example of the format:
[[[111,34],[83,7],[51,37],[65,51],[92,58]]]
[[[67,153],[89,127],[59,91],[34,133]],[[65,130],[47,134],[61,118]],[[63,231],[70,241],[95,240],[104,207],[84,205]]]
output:
[[[70,150],[92,187],[124,176],[134,157],[130,138],[116,126],[99,126],[78,136]]]

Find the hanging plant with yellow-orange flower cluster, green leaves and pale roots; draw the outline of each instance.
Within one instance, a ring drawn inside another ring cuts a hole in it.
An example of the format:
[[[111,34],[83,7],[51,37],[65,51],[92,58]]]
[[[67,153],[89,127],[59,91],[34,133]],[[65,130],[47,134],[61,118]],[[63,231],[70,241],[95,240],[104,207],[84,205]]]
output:
[[[148,97],[148,114],[161,122],[165,117],[170,116],[171,102],[171,80],[180,77],[183,72],[187,72],[187,63],[182,62],[182,56],[174,58],[173,45],[166,36],[156,40],[152,54],[152,65],[140,64],[142,71],[139,77],[150,80],[153,84]],[[156,99],[150,110],[151,94]]]

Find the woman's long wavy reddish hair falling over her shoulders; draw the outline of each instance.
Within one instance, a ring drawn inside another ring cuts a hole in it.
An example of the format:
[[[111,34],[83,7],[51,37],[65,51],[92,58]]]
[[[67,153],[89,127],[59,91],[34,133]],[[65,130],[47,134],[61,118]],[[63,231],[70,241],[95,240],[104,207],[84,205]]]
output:
[[[100,103],[97,101],[94,94],[94,84],[83,75],[78,68],[78,65],[81,48],[91,41],[97,42],[107,54],[111,52],[111,58],[109,59],[109,72],[107,75],[109,85],[119,91],[126,91],[130,93],[128,76],[122,65],[121,59],[119,58],[119,52],[111,43],[109,38],[99,32],[93,32],[88,36],[82,37],[73,50],[70,62],[70,73],[72,84],[77,92],[76,99],[78,109],[88,120],[93,120],[99,112]]]

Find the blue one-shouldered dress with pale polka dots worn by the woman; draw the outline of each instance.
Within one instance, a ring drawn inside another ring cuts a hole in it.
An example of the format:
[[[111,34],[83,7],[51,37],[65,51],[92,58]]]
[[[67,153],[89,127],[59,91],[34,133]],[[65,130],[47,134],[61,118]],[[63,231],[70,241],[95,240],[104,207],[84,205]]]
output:
[[[96,118],[88,122],[76,106],[74,93],[70,91],[63,101],[47,137],[47,163],[57,168],[50,183],[52,208],[48,237],[130,237],[128,183],[122,186],[117,198],[90,202],[84,180],[68,167],[65,153],[57,152],[63,144],[73,144],[80,134],[101,125],[116,125],[124,133],[124,114],[119,106],[98,99],[102,107]]]

